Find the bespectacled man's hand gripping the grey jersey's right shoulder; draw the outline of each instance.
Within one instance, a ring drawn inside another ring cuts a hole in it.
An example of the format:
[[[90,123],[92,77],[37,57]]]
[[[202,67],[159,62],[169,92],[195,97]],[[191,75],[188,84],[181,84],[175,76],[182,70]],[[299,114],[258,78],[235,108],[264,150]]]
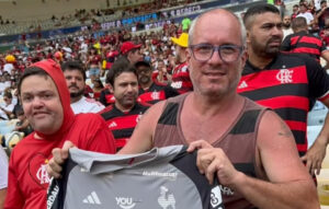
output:
[[[242,174],[234,167],[220,148],[200,149],[196,166],[202,174],[205,174],[209,184],[213,184],[214,175],[217,175],[222,185],[234,187]]]

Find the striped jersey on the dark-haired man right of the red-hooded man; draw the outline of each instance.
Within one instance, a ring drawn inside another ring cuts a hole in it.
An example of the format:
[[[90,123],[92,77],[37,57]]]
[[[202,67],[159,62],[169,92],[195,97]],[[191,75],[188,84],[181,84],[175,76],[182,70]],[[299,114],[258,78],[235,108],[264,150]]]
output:
[[[126,144],[133,135],[137,123],[148,107],[148,104],[136,103],[129,112],[123,113],[115,107],[115,104],[112,104],[99,113],[112,131],[117,149],[121,149]]]

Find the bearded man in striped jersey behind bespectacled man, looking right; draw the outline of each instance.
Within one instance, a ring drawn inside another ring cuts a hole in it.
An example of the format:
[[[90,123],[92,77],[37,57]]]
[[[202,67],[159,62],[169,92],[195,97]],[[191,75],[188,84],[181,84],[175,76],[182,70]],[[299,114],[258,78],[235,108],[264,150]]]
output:
[[[294,133],[299,156],[310,174],[315,170],[319,173],[329,140],[329,117],[309,150],[306,120],[311,101],[319,100],[329,106],[328,74],[307,56],[280,53],[282,22],[275,7],[250,8],[243,23],[249,58],[238,93],[274,109]]]

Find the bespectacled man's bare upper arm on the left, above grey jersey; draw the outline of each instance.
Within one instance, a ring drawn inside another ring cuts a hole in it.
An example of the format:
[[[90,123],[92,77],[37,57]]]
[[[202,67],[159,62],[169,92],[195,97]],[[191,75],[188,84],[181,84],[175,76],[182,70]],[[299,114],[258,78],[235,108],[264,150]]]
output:
[[[152,137],[162,113],[164,101],[151,106],[138,121],[129,141],[118,154],[132,154],[148,151],[152,148]]]

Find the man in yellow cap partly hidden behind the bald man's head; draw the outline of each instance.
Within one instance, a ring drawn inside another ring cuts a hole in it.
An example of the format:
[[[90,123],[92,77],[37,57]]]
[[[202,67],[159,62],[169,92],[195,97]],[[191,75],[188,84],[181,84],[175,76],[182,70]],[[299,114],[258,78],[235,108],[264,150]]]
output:
[[[183,94],[193,90],[185,55],[189,45],[189,34],[182,33],[179,38],[171,37],[171,42],[175,44],[177,63],[172,72],[171,86],[180,94]]]

